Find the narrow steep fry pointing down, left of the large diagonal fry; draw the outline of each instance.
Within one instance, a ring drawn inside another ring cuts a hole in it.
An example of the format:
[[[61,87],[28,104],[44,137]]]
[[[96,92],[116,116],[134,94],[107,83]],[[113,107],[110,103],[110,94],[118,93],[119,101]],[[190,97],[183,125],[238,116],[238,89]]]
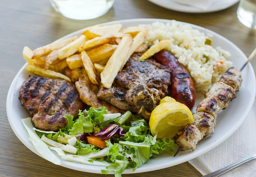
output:
[[[96,70],[93,67],[93,63],[90,60],[90,57],[87,55],[87,53],[85,51],[83,51],[83,52],[81,52],[81,58],[82,58],[84,68],[89,76],[90,81],[93,84],[98,84]]]

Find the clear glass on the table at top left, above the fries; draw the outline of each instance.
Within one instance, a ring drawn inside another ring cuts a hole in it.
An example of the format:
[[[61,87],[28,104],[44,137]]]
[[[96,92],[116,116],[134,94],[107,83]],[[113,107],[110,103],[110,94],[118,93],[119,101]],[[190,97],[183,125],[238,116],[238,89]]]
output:
[[[49,0],[52,7],[64,17],[90,20],[108,12],[115,0]]]

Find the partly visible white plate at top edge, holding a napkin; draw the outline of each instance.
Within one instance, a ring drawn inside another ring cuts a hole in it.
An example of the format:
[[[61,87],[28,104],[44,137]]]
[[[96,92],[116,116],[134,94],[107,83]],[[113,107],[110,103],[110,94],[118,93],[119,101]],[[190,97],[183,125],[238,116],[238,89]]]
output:
[[[207,13],[214,11],[221,11],[225,8],[229,8],[237,3],[239,0],[220,0],[212,4],[206,10],[201,10],[192,6],[186,6],[183,4],[176,3],[172,0],[149,0],[151,3],[157,4],[158,6],[168,8],[174,11],[187,12],[187,13]]]

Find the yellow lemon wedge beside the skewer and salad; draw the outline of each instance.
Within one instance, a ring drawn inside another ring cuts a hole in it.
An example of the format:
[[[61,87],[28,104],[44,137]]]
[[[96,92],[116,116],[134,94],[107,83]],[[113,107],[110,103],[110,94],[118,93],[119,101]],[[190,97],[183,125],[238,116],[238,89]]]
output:
[[[173,138],[182,126],[192,121],[192,112],[185,104],[166,96],[151,112],[149,127],[153,136],[157,134],[157,139]]]

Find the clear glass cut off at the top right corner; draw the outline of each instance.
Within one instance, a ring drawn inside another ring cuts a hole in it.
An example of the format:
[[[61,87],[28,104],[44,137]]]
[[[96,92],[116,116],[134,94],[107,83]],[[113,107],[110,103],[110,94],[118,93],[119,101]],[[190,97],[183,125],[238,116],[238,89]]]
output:
[[[256,29],[256,0],[241,0],[236,14],[244,26]]]

